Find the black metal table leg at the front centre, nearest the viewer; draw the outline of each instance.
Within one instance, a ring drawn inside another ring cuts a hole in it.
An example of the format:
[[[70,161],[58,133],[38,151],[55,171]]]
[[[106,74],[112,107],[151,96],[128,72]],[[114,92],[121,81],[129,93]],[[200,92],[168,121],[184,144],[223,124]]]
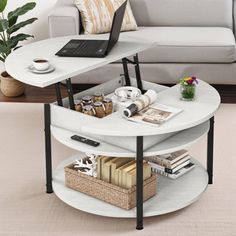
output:
[[[143,229],[143,136],[137,137],[136,153],[136,229]]]

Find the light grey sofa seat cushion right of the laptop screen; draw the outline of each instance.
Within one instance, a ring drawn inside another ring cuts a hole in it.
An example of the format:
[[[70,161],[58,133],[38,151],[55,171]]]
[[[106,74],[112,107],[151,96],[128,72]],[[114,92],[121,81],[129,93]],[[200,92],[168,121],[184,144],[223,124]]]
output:
[[[230,63],[235,61],[231,29],[218,27],[140,27],[124,32],[155,47],[139,54],[141,62]]]

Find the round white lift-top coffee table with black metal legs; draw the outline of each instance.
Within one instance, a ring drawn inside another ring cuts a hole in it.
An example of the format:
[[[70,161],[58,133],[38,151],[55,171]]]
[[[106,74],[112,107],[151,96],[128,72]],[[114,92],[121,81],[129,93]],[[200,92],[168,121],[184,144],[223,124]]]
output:
[[[197,86],[194,102],[179,100],[179,85],[167,88],[141,80],[137,53],[151,47],[141,42],[120,41],[106,58],[59,58],[55,53],[71,38],[63,37],[36,42],[13,52],[6,60],[6,70],[14,78],[38,87],[55,84],[57,102],[45,104],[45,147],[47,193],[55,194],[64,202],[77,209],[110,217],[136,217],[137,229],[143,228],[143,216],[154,216],[173,212],[196,201],[212,183],[214,114],[220,104],[217,91],[203,81]],[[127,59],[134,55],[133,60]],[[27,70],[34,58],[47,58],[56,67],[50,74],[32,74]],[[73,94],[70,77],[122,59],[124,76],[84,92]],[[136,78],[130,78],[127,64],[133,64]],[[68,98],[62,99],[60,82],[66,80]],[[74,111],[74,99],[86,94],[103,91],[110,94],[120,86],[137,86],[141,91],[154,89],[160,103],[183,109],[160,127],[129,122],[120,112],[98,119]],[[69,109],[69,108],[70,109]],[[64,184],[64,167],[80,158],[81,154],[70,157],[52,173],[51,133],[66,146],[82,152],[100,155],[134,157],[137,160],[137,207],[123,210],[69,189]],[[96,138],[98,147],[91,147],[70,139],[74,134]],[[197,161],[196,167],[176,180],[159,177],[157,195],[143,203],[143,157],[173,152],[197,142],[208,134],[207,171]],[[153,142],[155,141],[155,144]],[[129,144],[127,146],[127,144]],[[208,172],[208,173],[207,173]],[[171,193],[171,194],[169,194]]]

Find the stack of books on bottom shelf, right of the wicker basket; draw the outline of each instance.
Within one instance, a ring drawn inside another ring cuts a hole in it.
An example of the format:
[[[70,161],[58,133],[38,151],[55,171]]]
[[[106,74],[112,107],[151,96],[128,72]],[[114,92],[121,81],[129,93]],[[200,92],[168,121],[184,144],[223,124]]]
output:
[[[179,150],[173,153],[145,157],[148,164],[151,165],[152,171],[160,175],[176,179],[194,168],[187,150]]]

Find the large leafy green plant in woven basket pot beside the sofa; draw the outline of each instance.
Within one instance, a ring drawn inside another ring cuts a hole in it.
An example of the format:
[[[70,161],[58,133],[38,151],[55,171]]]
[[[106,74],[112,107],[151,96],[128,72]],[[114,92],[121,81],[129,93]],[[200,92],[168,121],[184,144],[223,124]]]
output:
[[[0,0],[0,61],[5,62],[7,56],[13,51],[19,48],[18,43],[28,38],[32,38],[33,35],[23,34],[16,32],[32,24],[37,18],[30,18],[28,20],[18,22],[18,17],[24,15],[28,11],[32,10],[35,6],[35,2],[30,2],[22,7],[18,7],[14,11],[4,14],[8,0]],[[24,93],[25,85],[15,79],[13,79],[7,71],[1,73],[1,91],[7,97],[16,97]]]

